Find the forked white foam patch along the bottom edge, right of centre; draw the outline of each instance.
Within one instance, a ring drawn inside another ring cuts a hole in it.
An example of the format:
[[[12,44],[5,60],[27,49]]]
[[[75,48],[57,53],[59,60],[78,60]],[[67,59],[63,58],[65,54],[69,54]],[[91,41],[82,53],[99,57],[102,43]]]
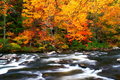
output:
[[[58,71],[65,72],[65,71],[71,71],[71,70],[74,70],[74,69],[75,70],[76,69],[82,70],[83,73],[70,75],[70,76],[63,76],[61,78],[58,78],[57,80],[73,80],[73,79],[74,80],[80,80],[80,79],[91,78],[91,77],[100,78],[100,79],[103,79],[103,80],[114,80],[114,79],[111,79],[111,78],[102,77],[102,76],[97,75],[99,72],[102,72],[102,69],[92,70],[90,68],[81,68],[78,65],[76,65],[75,67],[69,66],[69,68],[67,70],[66,69],[58,69]]]

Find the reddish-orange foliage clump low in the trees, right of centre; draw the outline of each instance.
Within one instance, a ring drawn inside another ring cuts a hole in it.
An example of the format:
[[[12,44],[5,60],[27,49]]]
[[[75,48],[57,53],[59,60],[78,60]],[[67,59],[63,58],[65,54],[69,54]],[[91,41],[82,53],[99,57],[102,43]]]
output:
[[[86,23],[86,21],[84,23],[79,23],[78,25],[76,24],[77,23],[72,23],[71,25],[67,26],[68,34],[65,37],[68,38],[68,41],[89,41],[92,33],[90,29],[88,29],[88,24]]]

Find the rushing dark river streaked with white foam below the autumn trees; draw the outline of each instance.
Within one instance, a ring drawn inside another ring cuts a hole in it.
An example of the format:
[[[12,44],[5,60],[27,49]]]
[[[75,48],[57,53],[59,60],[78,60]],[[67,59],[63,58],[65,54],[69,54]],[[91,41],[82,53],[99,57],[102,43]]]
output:
[[[1,53],[0,80],[120,80],[120,50],[87,53]]]

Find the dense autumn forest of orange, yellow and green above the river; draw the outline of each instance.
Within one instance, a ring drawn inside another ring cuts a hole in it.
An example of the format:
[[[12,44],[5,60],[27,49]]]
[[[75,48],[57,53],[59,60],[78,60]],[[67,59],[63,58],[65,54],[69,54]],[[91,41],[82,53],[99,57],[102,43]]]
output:
[[[120,0],[0,0],[1,51],[120,47]]]

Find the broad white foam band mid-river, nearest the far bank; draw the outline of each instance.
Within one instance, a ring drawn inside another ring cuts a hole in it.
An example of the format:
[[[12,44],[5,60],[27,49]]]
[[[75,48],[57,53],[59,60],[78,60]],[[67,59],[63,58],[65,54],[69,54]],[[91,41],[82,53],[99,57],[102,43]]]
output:
[[[52,58],[43,59],[43,62],[53,61],[57,63],[62,60],[72,60],[72,63],[86,63],[90,65],[95,65],[97,62],[95,60],[88,59],[87,55],[83,55],[82,53],[78,53],[78,52],[65,57],[59,57],[59,58],[52,57]]]

